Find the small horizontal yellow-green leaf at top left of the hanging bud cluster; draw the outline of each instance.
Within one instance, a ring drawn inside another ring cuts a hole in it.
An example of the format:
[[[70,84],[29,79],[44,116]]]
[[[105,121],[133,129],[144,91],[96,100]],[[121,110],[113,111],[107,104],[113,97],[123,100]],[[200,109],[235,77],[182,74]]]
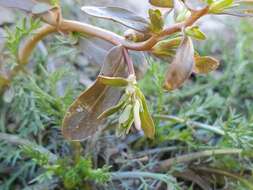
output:
[[[99,75],[97,80],[102,84],[113,87],[125,87],[128,85],[128,80],[122,77],[107,77]]]

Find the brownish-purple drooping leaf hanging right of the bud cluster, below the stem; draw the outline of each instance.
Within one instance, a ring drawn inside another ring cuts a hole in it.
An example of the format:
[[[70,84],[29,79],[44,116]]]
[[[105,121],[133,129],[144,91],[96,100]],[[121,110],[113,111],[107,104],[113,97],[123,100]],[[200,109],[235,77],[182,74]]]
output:
[[[194,48],[190,37],[186,36],[169,65],[164,88],[174,90],[182,86],[192,73],[194,65]]]

